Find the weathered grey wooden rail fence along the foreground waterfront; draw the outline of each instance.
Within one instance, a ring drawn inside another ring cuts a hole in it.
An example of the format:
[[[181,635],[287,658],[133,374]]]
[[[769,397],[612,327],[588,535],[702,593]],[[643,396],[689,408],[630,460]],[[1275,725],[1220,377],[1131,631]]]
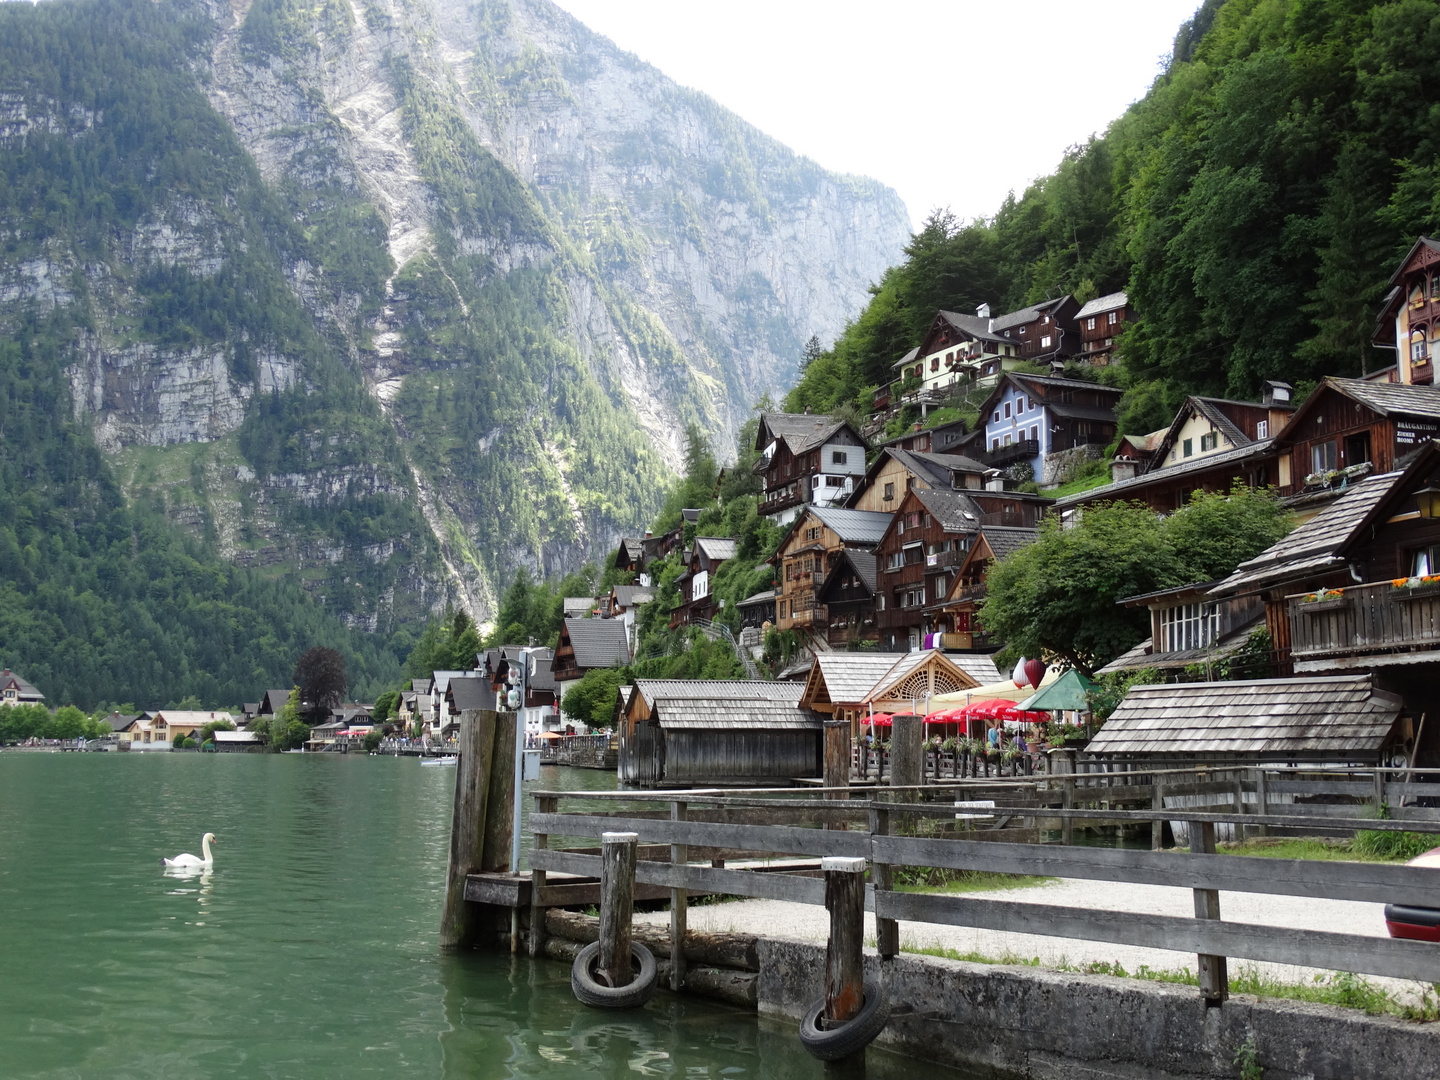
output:
[[[1099,805],[1103,802],[1094,798],[1099,786],[1093,783],[1087,789],[1084,776],[1067,778],[1070,783],[1060,792],[1037,792],[1037,785],[1031,780],[991,780],[891,788],[867,792],[870,798],[842,802],[834,801],[834,796],[845,798],[841,789],[814,788],[801,792],[710,789],[667,792],[662,796],[635,792],[540,792],[536,795],[537,809],[530,818],[530,828],[536,834],[536,847],[530,855],[530,901],[534,909],[531,926],[540,927],[531,932],[531,950],[540,948],[543,909],[564,903],[566,884],[552,883],[549,874],[573,876],[573,883],[598,878],[600,873],[598,852],[552,850],[550,838],[598,838],[602,832],[625,831],[639,837],[636,883],[670,890],[672,926],[680,927],[681,937],[687,897],[697,893],[822,904],[824,883],[814,876],[814,867],[804,863],[766,867],[763,861],[841,855],[865,858],[871,864],[865,907],[877,917],[881,956],[899,952],[897,923],[906,920],[1192,952],[1200,960],[1201,992],[1211,1001],[1227,994],[1225,958],[1230,956],[1440,982],[1440,945],[1236,923],[1221,917],[1221,891],[1416,906],[1436,906],[1440,897],[1440,868],[1215,854],[1215,828],[1224,824],[1302,832],[1323,825],[1328,831],[1413,829],[1440,834],[1440,814],[1421,814],[1423,808],[1401,821],[1377,819],[1361,805],[1286,805],[1272,809],[1264,804],[1266,795],[1283,791],[1287,783],[1308,785],[1309,795],[1320,793],[1312,788],[1319,785],[1338,796],[1356,796],[1361,793],[1359,788],[1367,786],[1351,779],[1306,780],[1274,775],[1284,772],[1287,770],[1269,769],[1259,780],[1250,780],[1251,789],[1259,783],[1261,796],[1254,809],[1246,809],[1243,799],[1236,801],[1236,792],[1244,791],[1244,779],[1221,785],[1233,801],[1228,809],[1224,805],[1116,809]],[[1405,782],[1391,786],[1384,775],[1378,776],[1378,780],[1368,785],[1368,791],[1381,802],[1397,795],[1404,798],[1416,786],[1430,786]],[[1418,776],[1407,775],[1404,779]],[[1195,770],[1185,770],[1184,775],[1169,770],[1155,773],[1151,789],[1184,792],[1217,788],[1201,780]],[[1153,828],[1156,818],[1162,816],[1185,822],[1195,842],[1188,852],[1007,842],[1004,829],[973,829],[969,828],[971,822],[956,821],[959,815],[955,802],[966,801],[973,805],[978,793],[998,795],[996,802],[1012,804],[995,808],[996,824],[1002,824],[1001,818],[1022,818],[1032,824],[1061,822],[1066,827],[1063,835],[1068,837],[1077,821]],[[605,799],[613,802],[616,809],[562,812],[560,805],[567,799],[588,799],[592,805],[595,799]],[[1080,805],[1083,802],[1092,805]],[[664,805],[664,809],[654,809],[655,805]],[[1323,814],[1312,812],[1320,806]],[[664,857],[665,847],[668,858]],[[726,858],[717,858],[717,852]],[[759,860],[762,864],[752,868],[724,865],[737,858]],[[694,860],[711,864],[697,865]],[[894,867],[1172,886],[1194,891],[1197,914],[1176,917],[989,897],[899,893],[891,887]]]

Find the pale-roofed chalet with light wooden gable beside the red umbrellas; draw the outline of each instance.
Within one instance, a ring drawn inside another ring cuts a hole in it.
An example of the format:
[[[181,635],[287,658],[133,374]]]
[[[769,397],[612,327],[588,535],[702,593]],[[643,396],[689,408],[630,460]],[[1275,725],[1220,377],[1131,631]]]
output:
[[[858,734],[871,713],[924,711],[929,698],[999,681],[989,657],[916,652],[819,652],[804,684],[804,708],[850,720]]]

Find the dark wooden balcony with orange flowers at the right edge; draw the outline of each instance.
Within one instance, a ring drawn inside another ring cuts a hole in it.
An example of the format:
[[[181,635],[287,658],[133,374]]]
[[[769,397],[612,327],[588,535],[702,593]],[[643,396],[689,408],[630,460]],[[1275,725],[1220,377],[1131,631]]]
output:
[[[1297,672],[1440,660],[1440,580],[1287,596],[1286,615]]]

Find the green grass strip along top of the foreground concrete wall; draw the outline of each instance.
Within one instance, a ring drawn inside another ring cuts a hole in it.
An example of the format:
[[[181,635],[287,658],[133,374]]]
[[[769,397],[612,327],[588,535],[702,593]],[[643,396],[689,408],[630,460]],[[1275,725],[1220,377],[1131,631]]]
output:
[[[1048,968],[1050,971],[1071,972],[1074,975],[1112,975],[1120,979],[1168,982],[1179,986],[1200,985],[1200,979],[1189,968],[1156,969],[1142,963],[1135,971],[1128,971],[1119,960],[1071,963],[1066,958],[1061,958],[1057,963],[1044,965],[1038,956],[1020,956],[1011,950],[991,956],[979,952],[946,949],[936,945],[916,945],[914,942],[901,942],[900,952],[917,956],[939,956],[946,960],[963,960],[966,963]],[[1339,1005],[1341,1008],[1362,1009],[1372,1017],[1398,1017],[1417,1022],[1440,1020],[1440,984],[1423,986],[1420,989],[1420,1001],[1410,1002],[1401,1001],[1391,991],[1377,986],[1362,975],[1329,972],[1316,975],[1309,982],[1283,982],[1272,975],[1266,975],[1253,965],[1246,965],[1230,976],[1230,992],[1250,994],[1257,998],[1308,1001],[1316,1005]]]

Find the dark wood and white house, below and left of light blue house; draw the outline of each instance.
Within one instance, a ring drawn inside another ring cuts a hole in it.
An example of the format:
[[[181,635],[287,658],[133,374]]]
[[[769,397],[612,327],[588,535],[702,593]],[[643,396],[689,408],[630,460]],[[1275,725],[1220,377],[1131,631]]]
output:
[[[768,412],[760,413],[755,449],[765,488],[760,513],[789,524],[805,505],[844,505],[865,474],[868,446],[847,420]]]

